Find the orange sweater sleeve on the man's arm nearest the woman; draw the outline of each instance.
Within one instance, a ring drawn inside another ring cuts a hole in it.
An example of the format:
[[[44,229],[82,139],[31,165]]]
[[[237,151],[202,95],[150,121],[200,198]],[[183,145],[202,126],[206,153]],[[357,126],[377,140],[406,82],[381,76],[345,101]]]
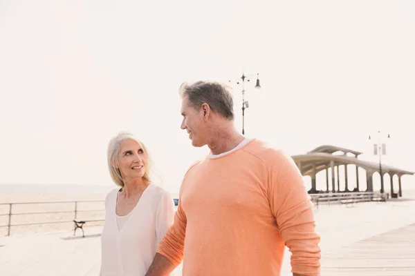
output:
[[[183,259],[185,246],[186,215],[181,207],[181,195],[179,196],[178,206],[174,215],[174,222],[167,231],[167,234],[160,242],[157,253],[167,257],[174,266],[178,266]]]

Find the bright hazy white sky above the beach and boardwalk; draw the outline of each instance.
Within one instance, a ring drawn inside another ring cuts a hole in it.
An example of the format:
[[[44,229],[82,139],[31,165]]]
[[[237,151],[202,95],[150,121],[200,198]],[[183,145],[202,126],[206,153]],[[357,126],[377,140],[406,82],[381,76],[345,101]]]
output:
[[[415,171],[414,33],[415,1],[2,0],[0,184],[113,185],[107,144],[127,130],[176,193],[209,152],[180,129],[178,87],[230,84],[241,130],[242,72],[247,137],[377,161],[381,130],[382,161]]]

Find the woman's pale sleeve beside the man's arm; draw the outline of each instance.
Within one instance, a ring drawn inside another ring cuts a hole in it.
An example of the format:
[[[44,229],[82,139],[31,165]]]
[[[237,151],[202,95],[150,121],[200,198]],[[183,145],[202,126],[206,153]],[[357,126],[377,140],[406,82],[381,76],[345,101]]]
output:
[[[170,197],[169,193],[163,193],[160,203],[158,204],[157,216],[156,216],[156,239],[157,245],[160,244],[163,237],[166,235],[167,230],[173,224],[174,221],[174,201]]]

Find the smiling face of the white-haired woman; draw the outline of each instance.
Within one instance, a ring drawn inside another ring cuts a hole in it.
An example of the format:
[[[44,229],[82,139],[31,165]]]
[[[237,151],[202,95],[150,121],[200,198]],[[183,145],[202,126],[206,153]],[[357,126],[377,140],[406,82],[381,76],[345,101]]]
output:
[[[125,139],[120,144],[117,161],[116,168],[120,169],[122,179],[141,178],[145,174],[147,152],[138,142]]]

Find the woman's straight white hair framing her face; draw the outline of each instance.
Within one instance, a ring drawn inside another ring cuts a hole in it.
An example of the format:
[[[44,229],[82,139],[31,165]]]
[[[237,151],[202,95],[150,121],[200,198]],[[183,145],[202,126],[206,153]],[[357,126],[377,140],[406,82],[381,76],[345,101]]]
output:
[[[145,156],[147,157],[145,163],[145,172],[142,176],[142,179],[147,183],[151,182],[149,174],[151,171],[151,158],[149,156],[149,152],[145,147],[145,144],[142,143],[139,139],[137,139],[134,135],[129,132],[120,132],[116,137],[113,137],[108,144],[108,151],[107,151],[107,161],[108,161],[108,169],[109,175],[113,179],[114,183],[120,187],[124,187],[124,181],[122,180],[120,169],[117,168],[118,165],[118,155],[120,154],[120,146],[122,141],[131,139],[136,141],[138,144],[142,146],[142,150],[144,151]]]

